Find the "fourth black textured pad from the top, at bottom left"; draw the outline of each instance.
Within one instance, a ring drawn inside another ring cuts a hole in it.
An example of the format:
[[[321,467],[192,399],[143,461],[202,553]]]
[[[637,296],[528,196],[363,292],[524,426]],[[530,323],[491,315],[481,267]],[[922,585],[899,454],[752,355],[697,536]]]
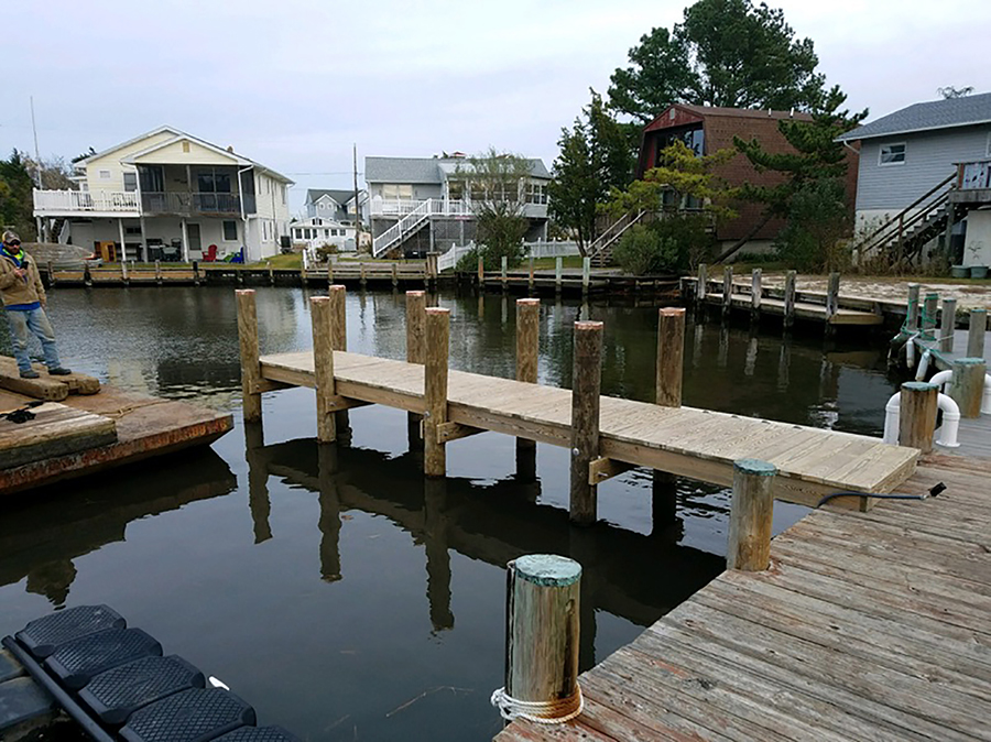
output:
[[[134,711],[120,736],[128,742],[207,742],[254,723],[254,709],[228,690],[184,690]]]

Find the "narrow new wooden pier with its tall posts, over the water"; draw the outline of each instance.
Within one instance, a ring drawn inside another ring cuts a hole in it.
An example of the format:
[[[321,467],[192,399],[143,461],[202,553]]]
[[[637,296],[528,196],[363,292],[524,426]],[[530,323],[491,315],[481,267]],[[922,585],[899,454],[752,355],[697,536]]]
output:
[[[915,469],[915,449],[886,445],[876,438],[600,396],[600,357],[595,350],[595,338],[601,342],[600,323],[576,325],[576,334],[590,338],[593,345],[586,352],[588,362],[575,364],[575,394],[525,381],[448,370],[446,309],[426,309],[423,324],[409,324],[425,327],[422,339],[415,334],[407,337],[407,342],[424,343],[424,364],[347,352],[339,349],[341,340],[334,330],[335,325],[344,326],[344,291],[342,286],[331,287],[331,297],[339,297],[336,301],[312,299],[314,350],[275,356],[260,356],[254,294],[250,290],[238,292],[246,419],[261,418],[263,392],[286,386],[317,389],[318,436],[325,441],[335,439],[334,415],[349,407],[383,404],[424,415],[428,476],[444,474],[448,443],[486,430],[570,448],[571,513],[576,522],[585,523],[595,520],[596,485],[632,467],[727,485],[732,482],[737,459],[762,458],[780,470],[774,495],[805,504],[815,504],[823,495],[839,490],[886,492]],[[334,302],[338,309],[317,312],[325,302]],[[535,337],[531,342],[536,353]],[[336,349],[331,351],[331,347]],[[576,357],[580,359],[581,352]],[[671,357],[669,352],[660,353],[658,368],[669,363]],[[676,358],[680,362],[680,353]],[[675,378],[679,384],[679,368]],[[663,397],[662,392],[658,394]],[[677,396],[679,401],[680,394]],[[860,500],[847,504],[870,506],[869,498]]]

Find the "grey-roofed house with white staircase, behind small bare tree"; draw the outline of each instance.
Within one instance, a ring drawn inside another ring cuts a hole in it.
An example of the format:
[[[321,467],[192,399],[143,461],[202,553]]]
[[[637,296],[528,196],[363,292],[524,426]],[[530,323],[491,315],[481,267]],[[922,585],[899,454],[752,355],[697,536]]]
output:
[[[530,176],[520,187],[527,241],[547,238],[547,185],[551,173],[541,160],[530,160]],[[366,157],[372,252],[424,253],[476,237],[471,210],[469,161],[444,157]]]

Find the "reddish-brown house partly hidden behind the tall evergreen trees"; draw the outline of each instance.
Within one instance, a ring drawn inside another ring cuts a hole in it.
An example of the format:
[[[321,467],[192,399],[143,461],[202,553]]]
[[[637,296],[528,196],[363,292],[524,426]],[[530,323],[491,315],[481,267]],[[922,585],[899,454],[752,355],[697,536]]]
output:
[[[682,140],[698,155],[712,154],[723,149],[733,149],[733,137],[744,140],[756,139],[769,152],[794,152],[794,148],[778,131],[782,119],[810,121],[807,113],[789,111],[754,110],[745,108],[717,108],[711,106],[689,106],[675,103],[651,121],[643,131],[636,177],[657,165],[657,154],[675,140]],[[850,167],[847,174],[848,203],[852,205],[857,190],[857,155],[849,152]],[[782,181],[778,173],[759,173],[742,154],[737,154],[717,171],[730,186],[744,183],[775,185]],[[763,220],[763,206],[738,203],[736,219],[726,220],[717,227],[716,238],[722,247],[729,247],[747,237]],[[784,220],[772,219],[753,234],[745,250],[767,249],[784,227]]]

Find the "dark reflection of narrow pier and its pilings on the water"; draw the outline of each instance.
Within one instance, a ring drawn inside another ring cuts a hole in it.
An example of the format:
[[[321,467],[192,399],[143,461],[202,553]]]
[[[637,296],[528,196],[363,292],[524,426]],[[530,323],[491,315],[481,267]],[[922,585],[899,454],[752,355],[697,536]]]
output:
[[[424,481],[415,454],[390,458],[366,449],[320,446],[313,439],[268,446],[263,454],[270,473],[318,493],[325,580],[346,572],[339,544],[341,513],[347,510],[383,515],[424,544],[434,631],[455,625],[450,549],[500,568],[532,553],[563,554],[580,561],[584,667],[593,658],[597,610],[649,625],[723,567],[718,556],[677,544],[682,531],[673,515],[674,481],[661,483],[667,490],[665,497],[655,498],[654,532],[642,535],[607,523],[575,528],[566,510],[537,504],[540,481],[536,477],[526,481],[535,467],[526,457],[518,461],[518,476],[479,485],[457,478]],[[396,487],[414,478],[424,481],[422,488]],[[644,569],[645,564],[658,567]]]

